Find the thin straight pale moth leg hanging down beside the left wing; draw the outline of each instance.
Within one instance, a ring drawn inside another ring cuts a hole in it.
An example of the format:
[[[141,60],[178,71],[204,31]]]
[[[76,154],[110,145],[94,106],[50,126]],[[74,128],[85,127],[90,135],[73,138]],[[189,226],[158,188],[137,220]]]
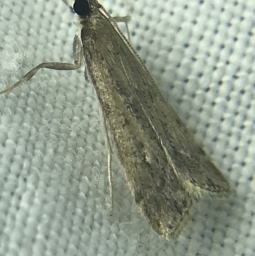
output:
[[[110,188],[110,199],[112,202],[112,212],[111,216],[114,213],[114,206],[113,206],[113,189],[112,189],[112,146],[110,142],[110,138],[108,135],[108,129],[107,129],[107,124],[105,121],[105,114],[103,113],[103,124],[105,126],[105,133],[106,133],[106,145],[108,148],[107,151],[107,172],[108,172],[108,181],[109,181],[109,188]]]

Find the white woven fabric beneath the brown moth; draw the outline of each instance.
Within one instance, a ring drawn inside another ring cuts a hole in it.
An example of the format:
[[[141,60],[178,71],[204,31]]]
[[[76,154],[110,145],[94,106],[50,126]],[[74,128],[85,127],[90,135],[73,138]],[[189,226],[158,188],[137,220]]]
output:
[[[41,70],[0,95],[0,255],[255,255],[255,2],[102,2],[131,14],[131,41],[170,104],[233,187],[205,198],[178,241],[138,211],[113,162],[84,68]],[[61,0],[1,0],[0,89],[44,61],[72,62]]]

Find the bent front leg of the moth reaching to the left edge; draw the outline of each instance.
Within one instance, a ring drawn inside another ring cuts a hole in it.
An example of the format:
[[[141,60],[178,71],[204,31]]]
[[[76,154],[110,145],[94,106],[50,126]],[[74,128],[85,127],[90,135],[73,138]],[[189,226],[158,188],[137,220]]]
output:
[[[30,70],[28,73],[26,73],[24,77],[22,77],[22,79],[18,80],[18,82],[13,84],[13,86],[8,87],[3,91],[0,91],[0,94],[8,93],[15,87],[19,86],[22,82],[28,81],[41,68],[49,68],[51,70],[77,70],[78,68],[80,68],[80,66],[82,66],[83,51],[82,51],[82,45],[81,45],[80,39],[78,38],[77,35],[73,40],[73,59],[74,59],[74,63],[61,63],[61,62],[41,63],[35,68],[33,68],[33,70]]]

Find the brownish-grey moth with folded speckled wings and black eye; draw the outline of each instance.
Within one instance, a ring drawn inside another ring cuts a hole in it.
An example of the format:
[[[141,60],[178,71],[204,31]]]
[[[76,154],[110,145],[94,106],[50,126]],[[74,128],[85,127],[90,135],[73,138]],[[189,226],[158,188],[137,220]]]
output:
[[[207,193],[227,197],[230,185],[105,8],[96,0],[77,0],[73,10],[79,16],[74,63],[41,63],[1,94],[41,68],[76,70],[84,60],[136,204],[159,235],[177,237],[196,200]]]

